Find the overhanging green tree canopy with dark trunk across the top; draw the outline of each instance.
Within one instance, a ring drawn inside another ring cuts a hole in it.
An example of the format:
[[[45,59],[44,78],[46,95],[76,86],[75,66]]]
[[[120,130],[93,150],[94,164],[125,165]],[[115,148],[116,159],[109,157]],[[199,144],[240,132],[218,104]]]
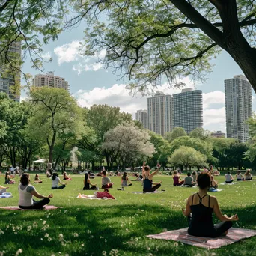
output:
[[[181,85],[183,76],[202,79],[220,49],[256,88],[252,0],[4,0],[0,14],[0,63],[13,63],[13,70],[10,43],[22,41],[40,69],[42,43],[85,19],[85,55],[106,50],[106,67],[128,76],[130,89],[146,91],[163,81]]]

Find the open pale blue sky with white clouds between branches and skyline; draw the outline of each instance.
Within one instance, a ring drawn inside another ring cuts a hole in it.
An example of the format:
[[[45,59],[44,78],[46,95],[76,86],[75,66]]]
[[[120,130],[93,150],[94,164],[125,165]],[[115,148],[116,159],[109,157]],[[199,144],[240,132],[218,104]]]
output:
[[[64,77],[70,84],[70,93],[76,97],[80,106],[120,106],[121,111],[129,112],[135,118],[136,110],[147,109],[147,97],[141,97],[140,94],[132,97],[125,89],[126,81],[118,80],[118,76],[113,74],[112,70],[104,70],[98,58],[83,57],[79,54],[79,41],[82,41],[84,35],[83,28],[85,25],[80,24],[73,30],[65,31],[58,40],[44,47],[44,55],[53,58],[51,63],[44,64],[44,70],[54,71],[56,76]],[[103,56],[104,52],[100,52],[99,58]],[[196,85],[196,88],[203,91],[204,129],[225,132],[224,79],[243,73],[226,52],[219,54],[211,63],[213,70],[208,74],[207,82]],[[33,76],[40,73],[31,68],[29,60],[25,62],[23,72],[31,73]],[[186,83],[186,87],[193,86],[189,78],[183,79],[183,82]],[[162,85],[159,91],[174,94],[181,90]],[[252,95],[254,99],[254,91]],[[22,97],[25,97],[24,91]],[[253,110],[255,109],[256,104],[253,100]]]

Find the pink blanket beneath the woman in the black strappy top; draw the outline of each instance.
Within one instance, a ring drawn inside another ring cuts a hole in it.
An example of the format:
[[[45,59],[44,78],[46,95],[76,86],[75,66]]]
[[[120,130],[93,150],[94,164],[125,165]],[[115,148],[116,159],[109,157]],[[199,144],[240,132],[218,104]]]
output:
[[[243,228],[230,228],[228,234],[222,237],[194,237],[188,234],[188,228],[180,228],[175,231],[167,231],[160,234],[152,234],[147,237],[163,240],[174,240],[181,243],[187,243],[192,246],[203,247],[207,249],[216,249],[222,246],[228,246],[244,238],[256,236],[256,231]]]

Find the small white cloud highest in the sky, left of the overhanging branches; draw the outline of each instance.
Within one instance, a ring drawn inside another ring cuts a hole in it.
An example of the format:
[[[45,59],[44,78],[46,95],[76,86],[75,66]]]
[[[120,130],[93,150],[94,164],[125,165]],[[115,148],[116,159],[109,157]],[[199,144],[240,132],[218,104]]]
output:
[[[106,49],[96,52],[95,55],[85,56],[82,55],[81,42],[76,40],[71,43],[64,44],[63,46],[58,46],[54,49],[55,55],[58,58],[58,64],[61,65],[65,62],[77,62],[73,64],[73,70],[78,74],[83,71],[97,71],[103,67],[100,61],[106,56]]]

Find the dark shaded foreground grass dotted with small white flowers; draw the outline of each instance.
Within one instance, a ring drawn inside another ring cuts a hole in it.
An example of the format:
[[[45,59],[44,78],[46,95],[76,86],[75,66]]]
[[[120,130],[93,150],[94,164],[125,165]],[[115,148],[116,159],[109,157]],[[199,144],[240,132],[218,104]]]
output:
[[[240,221],[235,227],[256,229],[255,206],[237,209],[237,215]],[[180,212],[155,205],[1,210],[0,228],[4,234],[1,232],[0,251],[6,255],[15,255],[19,248],[22,255],[207,255],[205,249],[145,237],[186,226]],[[255,242],[255,238],[247,239],[243,247],[235,243],[212,251],[216,255],[245,255],[255,249]]]

